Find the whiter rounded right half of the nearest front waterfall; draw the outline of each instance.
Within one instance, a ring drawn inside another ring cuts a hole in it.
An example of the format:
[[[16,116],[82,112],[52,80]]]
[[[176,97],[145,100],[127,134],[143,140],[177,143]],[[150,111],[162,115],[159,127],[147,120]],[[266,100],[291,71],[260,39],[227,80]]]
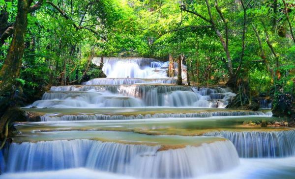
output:
[[[222,141],[158,152],[155,156],[137,156],[131,164],[131,174],[140,178],[183,179],[227,171],[238,164],[233,144]]]

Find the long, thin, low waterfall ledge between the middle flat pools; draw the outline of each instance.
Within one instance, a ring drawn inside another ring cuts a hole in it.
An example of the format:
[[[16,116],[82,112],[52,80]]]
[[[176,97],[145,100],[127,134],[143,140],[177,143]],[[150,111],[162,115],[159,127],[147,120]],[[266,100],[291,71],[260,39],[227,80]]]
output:
[[[266,116],[261,111],[216,111],[201,113],[156,113],[138,115],[109,115],[109,114],[79,114],[79,115],[43,115],[40,120],[45,121],[79,121],[79,120],[132,120],[132,119],[156,119],[156,118],[206,118],[213,116]]]

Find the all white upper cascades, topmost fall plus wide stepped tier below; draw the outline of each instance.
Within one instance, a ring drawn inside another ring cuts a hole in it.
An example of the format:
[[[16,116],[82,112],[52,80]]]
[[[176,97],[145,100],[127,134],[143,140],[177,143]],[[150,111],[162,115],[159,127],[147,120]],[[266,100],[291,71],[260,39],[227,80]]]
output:
[[[93,62],[100,65],[100,58]],[[108,78],[91,79],[85,85],[53,86],[42,100],[28,107],[225,108],[236,95],[228,88],[171,85],[176,79],[167,77],[168,63],[152,58],[104,58],[103,71]]]

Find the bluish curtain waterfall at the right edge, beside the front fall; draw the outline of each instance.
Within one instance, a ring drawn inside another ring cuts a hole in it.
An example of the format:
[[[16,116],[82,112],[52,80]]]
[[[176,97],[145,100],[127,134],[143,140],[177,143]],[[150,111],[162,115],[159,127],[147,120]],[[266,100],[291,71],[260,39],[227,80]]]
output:
[[[204,134],[229,139],[240,157],[284,157],[295,155],[295,130],[287,131],[216,131]]]

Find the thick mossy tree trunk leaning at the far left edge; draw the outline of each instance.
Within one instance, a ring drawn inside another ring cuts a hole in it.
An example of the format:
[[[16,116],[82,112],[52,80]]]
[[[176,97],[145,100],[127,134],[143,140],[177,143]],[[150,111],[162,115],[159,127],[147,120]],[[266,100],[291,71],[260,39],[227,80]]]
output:
[[[11,91],[15,79],[20,76],[30,1],[18,0],[14,35],[0,72],[0,96],[7,90]]]

